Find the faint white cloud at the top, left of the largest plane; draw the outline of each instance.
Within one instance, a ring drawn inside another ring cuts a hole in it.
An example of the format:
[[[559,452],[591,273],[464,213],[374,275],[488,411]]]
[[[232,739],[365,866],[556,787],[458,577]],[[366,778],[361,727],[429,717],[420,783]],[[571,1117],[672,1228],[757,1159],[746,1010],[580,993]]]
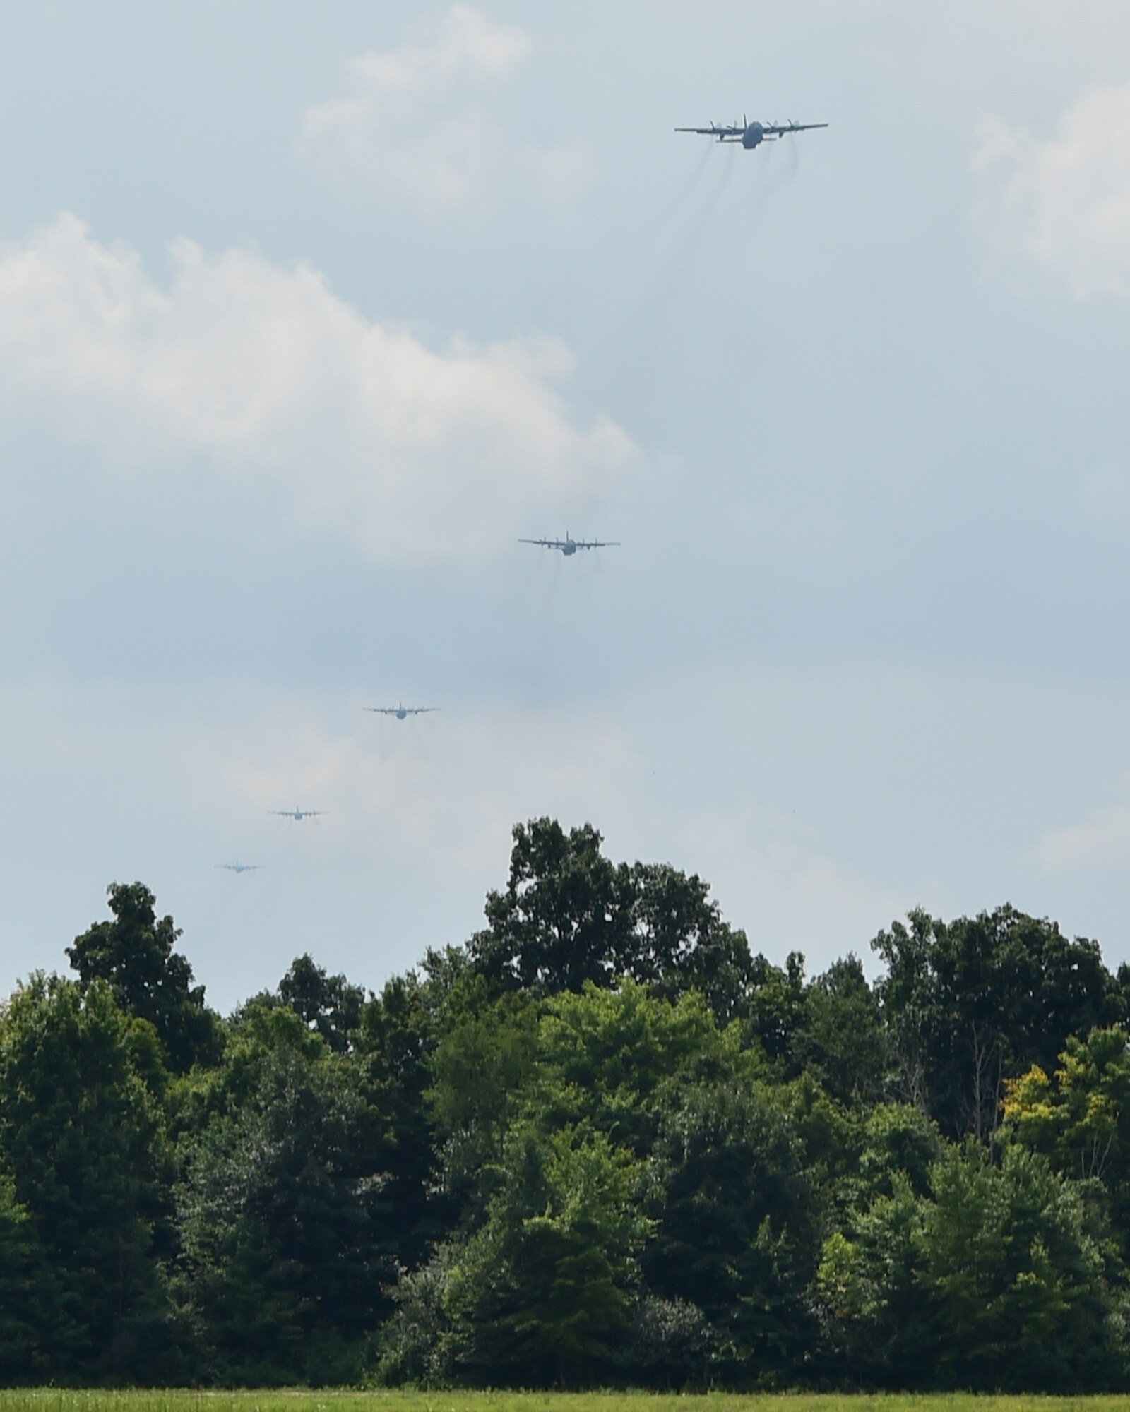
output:
[[[349,61],[345,92],[302,114],[299,150],[431,215],[492,209],[507,182],[568,202],[588,181],[589,148],[516,143],[476,106],[530,52],[517,27],[452,6],[428,42]]]

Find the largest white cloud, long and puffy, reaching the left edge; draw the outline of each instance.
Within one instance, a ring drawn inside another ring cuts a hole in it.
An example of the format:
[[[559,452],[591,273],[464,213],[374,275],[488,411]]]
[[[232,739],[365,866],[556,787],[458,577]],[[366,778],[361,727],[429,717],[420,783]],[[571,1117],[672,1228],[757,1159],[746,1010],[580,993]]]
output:
[[[157,284],[71,215],[0,247],[0,398],[112,462],[210,457],[374,558],[477,555],[627,466],[557,339],[428,347],[308,265],[179,240]],[[489,538],[484,538],[489,535]]]

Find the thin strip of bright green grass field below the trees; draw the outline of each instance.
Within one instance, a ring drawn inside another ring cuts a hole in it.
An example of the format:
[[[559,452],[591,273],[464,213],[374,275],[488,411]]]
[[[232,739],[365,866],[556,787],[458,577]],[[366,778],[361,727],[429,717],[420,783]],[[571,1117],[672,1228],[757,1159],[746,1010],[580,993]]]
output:
[[[0,1412],[1130,1412],[1130,1396],[0,1391]]]

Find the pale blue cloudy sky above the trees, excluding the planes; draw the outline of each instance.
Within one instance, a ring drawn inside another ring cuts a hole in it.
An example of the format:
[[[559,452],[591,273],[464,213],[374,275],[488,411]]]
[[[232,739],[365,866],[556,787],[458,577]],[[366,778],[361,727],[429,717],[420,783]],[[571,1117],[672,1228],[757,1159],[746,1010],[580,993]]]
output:
[[[1130,960],[1127,332],[1124,0],[14,7],[3,993],[134,880],[379,988],[541,815]]]

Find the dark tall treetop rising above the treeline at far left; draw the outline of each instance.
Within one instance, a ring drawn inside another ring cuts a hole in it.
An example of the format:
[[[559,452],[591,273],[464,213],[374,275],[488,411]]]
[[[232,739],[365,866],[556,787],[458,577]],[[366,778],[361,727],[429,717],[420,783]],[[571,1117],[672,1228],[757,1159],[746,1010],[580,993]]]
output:
[[[93,922],[66,947],[86,990],[106,981],[119,1005],[157,1031],[174,1073],[219,1058],[219,1024],[192,984],[192,967],[174,952],[181,932],[171,916],[157,921],[155,898],[141,882],[109,888],[112,922]]]

